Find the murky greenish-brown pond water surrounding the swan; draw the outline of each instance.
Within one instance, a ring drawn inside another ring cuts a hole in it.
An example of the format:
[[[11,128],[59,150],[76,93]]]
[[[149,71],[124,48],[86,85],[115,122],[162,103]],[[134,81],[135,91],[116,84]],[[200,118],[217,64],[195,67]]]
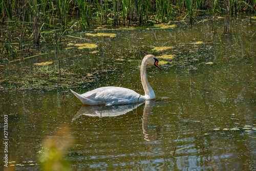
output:
[[[160,59],[169,62],[160,71],[148,67],[156,99],[139,104],[82,106],[69,89],[18,90],[2,84],[1,136],[5,139],[8,115],[9,140],[8,152],[1,150],[1,156],[8,154],[8,165],[16,170],[40,169],[38,152],[55,139],[61,140],[56,148],[67,148],[62,160],[73,170],[256,169],[256,27],[242,20],[230,22],[228,34],[221,22],[217,33],[211,27],[209,21],[173,29],[69,32],[98,45],[66,49],[72,47],[70,42],[88,41],[61,40],[61,67],[95,76],[90,84],[73,88],[78,93],[120,86],[144,94],[139,74],[143,56],[175,58]],[[116,37],[90,37],[87,32]],[[45,37],[42,51],[55,50],[51,35]],[[191,44],[198,41],[202,43]],[[174,48],[152,51],[162,46]],[[91,53],[95,50],[99,52]],[[33,73],[33,63],[55,60],[55,53],[50,53],[0,63],[5,65],[0,73],[23,77]]]

